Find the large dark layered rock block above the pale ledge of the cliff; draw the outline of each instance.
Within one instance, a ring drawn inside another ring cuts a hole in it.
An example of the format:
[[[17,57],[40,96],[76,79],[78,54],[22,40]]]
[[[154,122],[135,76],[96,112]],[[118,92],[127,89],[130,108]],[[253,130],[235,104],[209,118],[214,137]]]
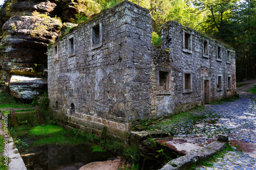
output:
[[[47,68],[47,47],[57,37],[59,19],[13,16],[3,26],[0,64],[10,74],[39,76]]]

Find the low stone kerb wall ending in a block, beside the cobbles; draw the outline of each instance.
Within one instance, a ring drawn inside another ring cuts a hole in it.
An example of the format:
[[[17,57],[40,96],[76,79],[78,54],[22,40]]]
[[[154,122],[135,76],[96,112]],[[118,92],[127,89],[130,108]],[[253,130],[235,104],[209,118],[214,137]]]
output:
[[[228,144],[228,135],[219,134],[217,141],[211,142],[204,148],[191,150],[187,155],[169,161],[159,170],[189,169],[194,164],[212,157],[217,151],[223,150],[226,144]]]

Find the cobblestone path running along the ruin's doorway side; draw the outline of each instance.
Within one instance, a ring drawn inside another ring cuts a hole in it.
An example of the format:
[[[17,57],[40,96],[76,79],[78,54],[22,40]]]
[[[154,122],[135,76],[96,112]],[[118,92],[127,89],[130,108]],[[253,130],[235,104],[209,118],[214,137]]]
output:
[[[242,95],[241,95],[242,94]],[[232,145],[243,146],[234,151],[225,151],[213,166],[197,166],[196,169],[244,169],[256,170],[256,95],[240,92],[240,99],[221,104],[205,105],[205,109],[194,110],[205,116],[199,120],[184,120],[177,126],[158,127],[184,137],[187,142],[201,147],[217,140],[217,134],[229,135]],[[192,111],[192,112],[194,112]]]

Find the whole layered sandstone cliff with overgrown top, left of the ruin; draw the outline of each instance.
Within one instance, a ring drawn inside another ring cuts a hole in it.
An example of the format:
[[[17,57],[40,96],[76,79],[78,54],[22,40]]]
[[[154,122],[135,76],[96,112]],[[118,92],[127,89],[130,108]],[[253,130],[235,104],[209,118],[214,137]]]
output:
[[[76,22],[77,14],[93,14],[90,3],[77,1],[7,1],[0,13],[0,92],[33,99],[47,89],[47,47]],[[91,3],[92,4],[92,3]],[[98,12],[98,11],[96,11]]]

